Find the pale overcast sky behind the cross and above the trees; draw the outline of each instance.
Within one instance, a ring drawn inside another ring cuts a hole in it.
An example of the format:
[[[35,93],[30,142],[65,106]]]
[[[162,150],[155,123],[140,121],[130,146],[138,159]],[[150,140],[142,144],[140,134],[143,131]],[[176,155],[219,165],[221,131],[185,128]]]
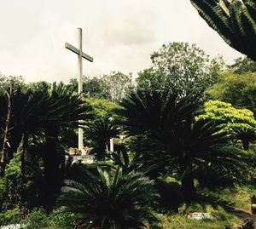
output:
[[[228,63],[241,56],[207,26],[189,0],[0,0],[0,72],[26,82],[68,82],[77,76],[77,46],[83,29],[88,77],[149,67],[163,43],[197,43]]]

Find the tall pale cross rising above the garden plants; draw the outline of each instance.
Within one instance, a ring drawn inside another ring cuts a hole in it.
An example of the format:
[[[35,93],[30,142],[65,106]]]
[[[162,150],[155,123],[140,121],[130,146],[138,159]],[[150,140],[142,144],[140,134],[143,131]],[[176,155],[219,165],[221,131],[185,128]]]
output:
[[[73,51],[73,53],[78,54],[79,57],[79,94],[81,95],[83,92],[83,83],[82,83],[82,77],[83,77],[83,58],[86,60],[89,60],[90,62],[93,62],[93,58],[90,57],[88,54],[84,54],[82,49],[82,29],[79,28],[79,49],[75,48],[73,45],[69,43],[65,43],[65,48],[69,49],[70,51]],[[79,150],[82,151],[83,149],[83,129],[79,128]]]

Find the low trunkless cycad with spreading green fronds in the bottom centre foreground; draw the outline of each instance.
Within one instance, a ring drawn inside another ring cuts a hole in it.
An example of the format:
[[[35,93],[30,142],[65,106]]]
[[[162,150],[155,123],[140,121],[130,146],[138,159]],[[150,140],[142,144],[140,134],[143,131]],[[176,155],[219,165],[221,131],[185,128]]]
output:
[[[79,215],[84,228],[142,228],[154,220],[154,182],[143,174],[98,169],[93,175],[85,169],[77,178],[65,181],[59,203]]]

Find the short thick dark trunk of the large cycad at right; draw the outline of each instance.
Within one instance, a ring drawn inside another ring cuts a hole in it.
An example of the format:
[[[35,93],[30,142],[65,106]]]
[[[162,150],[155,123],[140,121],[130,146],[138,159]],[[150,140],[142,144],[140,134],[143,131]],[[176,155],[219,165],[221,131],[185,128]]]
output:
[[[191,201],[196,198],[195,184],[192,175],[184,175],[181,188],[183,192],[183,198],[186,201]]]

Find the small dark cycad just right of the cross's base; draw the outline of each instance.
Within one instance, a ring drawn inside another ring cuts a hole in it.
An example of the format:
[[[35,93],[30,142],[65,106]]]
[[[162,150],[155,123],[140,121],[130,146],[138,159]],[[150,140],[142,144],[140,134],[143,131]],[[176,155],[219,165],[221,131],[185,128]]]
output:
[[[86,124],[84,134],[88,140],[92,141],[97,159],[102,160],[105,158],[109,140],[119,135],[119,129],[111,118],[98,117],[93,122]]]

